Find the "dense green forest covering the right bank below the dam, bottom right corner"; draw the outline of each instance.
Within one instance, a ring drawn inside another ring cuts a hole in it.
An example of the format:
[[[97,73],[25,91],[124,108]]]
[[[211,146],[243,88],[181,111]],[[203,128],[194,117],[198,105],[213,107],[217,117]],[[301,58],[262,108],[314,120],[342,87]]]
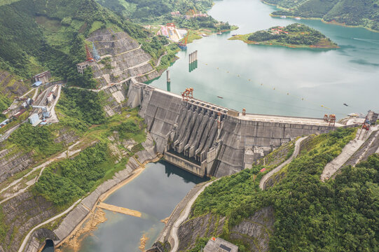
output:
[[[375,251],[379,245],[379,155],[357,167],[343,168],[335,180],[323,183],[319,179],[326,163],[353,137],[354,129],[313,137],[282,170],[284,179],[265,191],[259,189],[263,174],[254,181],[254,169],[216,181],[196,200],[193,217],[209,212],[227,216],[222,237],[230,239],[231,227],[262,207],[273,206],[270,251]]]

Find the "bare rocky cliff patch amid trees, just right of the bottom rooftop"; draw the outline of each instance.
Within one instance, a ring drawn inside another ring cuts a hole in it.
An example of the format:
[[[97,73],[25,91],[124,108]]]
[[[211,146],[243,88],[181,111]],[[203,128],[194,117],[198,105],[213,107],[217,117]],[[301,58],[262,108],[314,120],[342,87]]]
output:
[[[251,251],[268,251],[268,241],[273,235],[274,209],[264,207],[254,216],[244,219],[242,223],[230,230],[230,238],[241,239],[250,244]]]

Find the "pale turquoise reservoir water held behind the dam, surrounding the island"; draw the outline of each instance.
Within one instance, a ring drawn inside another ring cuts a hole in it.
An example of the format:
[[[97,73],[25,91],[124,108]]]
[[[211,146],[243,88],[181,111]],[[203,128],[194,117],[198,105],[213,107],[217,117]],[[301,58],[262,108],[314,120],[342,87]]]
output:
[[[179,52],[180,59],[170,67],[171,92],[193,87],[195,98],[238,111],[246,108],[247,113],[317,118],[335,113],[342,118],[379,110],[379,33],[319,20],[272,18],[273,10],[259,0],[217,1],[209,15],[240,29],[194,41],[187,52]],[[293,22],[321,31],[340,48],[285,48],[227,39]],[[194,50],[198,69],[189,73],[188,54]],[[166,89],[165,74],[151,85]]]

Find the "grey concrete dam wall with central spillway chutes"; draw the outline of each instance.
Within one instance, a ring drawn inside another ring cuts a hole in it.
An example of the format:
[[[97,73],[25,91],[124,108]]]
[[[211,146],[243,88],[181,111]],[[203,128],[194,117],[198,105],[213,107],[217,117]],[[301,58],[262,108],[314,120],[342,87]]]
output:
[[[239,113],[134,80],[128,106],[140,106],[139,116],[167,162],[201,177],[240,172],[296,137],[343,126],[317,118]]]

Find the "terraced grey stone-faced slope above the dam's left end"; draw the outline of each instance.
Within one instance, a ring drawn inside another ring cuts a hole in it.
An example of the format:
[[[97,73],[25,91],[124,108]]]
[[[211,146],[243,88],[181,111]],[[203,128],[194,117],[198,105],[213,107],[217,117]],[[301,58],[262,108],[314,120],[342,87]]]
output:
[[[125,32],[101,29],[93,32],[88,41],[95,43],[99,55],[105,58],[91,65],[100,86],[156,72],[150,64],[151,55]]]

